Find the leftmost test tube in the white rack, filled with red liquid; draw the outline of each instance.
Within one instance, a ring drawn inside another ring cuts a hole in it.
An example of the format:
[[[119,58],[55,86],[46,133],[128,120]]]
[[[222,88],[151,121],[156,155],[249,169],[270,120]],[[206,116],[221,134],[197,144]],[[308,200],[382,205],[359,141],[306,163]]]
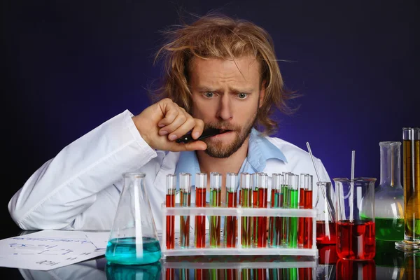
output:
[[[175,207],[176,175],[167,175],[166,207]],[[167,216],[166,246],[167,249],[175,248],[175,216]]]

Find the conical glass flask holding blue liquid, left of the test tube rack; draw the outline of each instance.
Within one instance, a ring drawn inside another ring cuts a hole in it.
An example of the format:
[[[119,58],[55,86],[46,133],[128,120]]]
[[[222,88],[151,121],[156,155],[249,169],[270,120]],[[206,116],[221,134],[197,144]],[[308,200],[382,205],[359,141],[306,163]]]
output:
[[[160,244],[143,173],[125,173],[105,258],[120,265],[146,265],[160,259]]]

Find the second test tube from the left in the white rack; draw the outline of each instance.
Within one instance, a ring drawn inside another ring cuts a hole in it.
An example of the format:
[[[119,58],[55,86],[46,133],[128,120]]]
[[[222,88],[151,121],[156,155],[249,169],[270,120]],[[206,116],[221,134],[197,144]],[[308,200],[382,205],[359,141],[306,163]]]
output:
[[[179,190],[181,207],[191,206],[191,174],[179,174]],[[180,216],[181,248],[190,246],[190,216]]]

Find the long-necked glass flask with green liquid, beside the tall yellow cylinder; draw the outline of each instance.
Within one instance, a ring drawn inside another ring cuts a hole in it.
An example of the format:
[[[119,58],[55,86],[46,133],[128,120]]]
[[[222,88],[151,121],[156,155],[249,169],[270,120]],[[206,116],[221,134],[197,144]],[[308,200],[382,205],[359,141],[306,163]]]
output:
[[[404,191],[400,181],[401,142],[379,142],[381,180],[374,192],[376,239],[404,239]]]

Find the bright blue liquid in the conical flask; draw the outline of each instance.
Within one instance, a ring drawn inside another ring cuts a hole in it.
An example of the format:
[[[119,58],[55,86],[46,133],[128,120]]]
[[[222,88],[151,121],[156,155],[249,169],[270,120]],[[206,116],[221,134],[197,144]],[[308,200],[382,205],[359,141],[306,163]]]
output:
[[[143,254],[136,253],[134,237],[116,238],[108,241],[105,258],[109,262],[120,265],[146,265],[160,260],[159,241],[151,237],[143,237]]]

